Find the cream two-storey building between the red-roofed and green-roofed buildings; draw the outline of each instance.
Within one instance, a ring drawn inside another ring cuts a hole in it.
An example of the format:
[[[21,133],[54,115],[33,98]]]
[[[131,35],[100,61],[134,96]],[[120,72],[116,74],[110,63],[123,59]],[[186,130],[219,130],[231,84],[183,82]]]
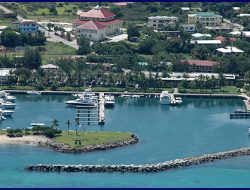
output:
[[[170,16],[151,16],[148,17],[148,26],[155,29],[161,28],[167,25],[174,25],[179,21],[177,17]]]

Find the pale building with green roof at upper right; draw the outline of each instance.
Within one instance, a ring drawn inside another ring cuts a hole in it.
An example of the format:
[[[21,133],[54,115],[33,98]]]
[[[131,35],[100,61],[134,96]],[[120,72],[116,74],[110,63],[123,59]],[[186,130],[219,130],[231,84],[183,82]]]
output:
[[[199,12],[196,14],[188,15],[188,23],[196,24],[200,23],[202,26],[219,26],[222,24],[223,17],[217,15],[214,12]]]

